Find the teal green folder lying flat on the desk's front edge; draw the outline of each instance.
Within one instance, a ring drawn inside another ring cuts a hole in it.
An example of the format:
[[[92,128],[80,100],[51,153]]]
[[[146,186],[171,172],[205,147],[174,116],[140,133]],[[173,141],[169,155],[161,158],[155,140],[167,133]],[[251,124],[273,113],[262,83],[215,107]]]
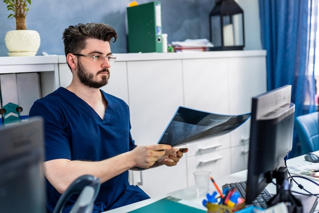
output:
[[[178,202],[180,199],[174,197],[166,197],[161,200],[158,200],[154,203],[151,203],[147,206],[143,206],[129,213],[206,213],[207,211],[195,208],[192,206],[185,205]]]

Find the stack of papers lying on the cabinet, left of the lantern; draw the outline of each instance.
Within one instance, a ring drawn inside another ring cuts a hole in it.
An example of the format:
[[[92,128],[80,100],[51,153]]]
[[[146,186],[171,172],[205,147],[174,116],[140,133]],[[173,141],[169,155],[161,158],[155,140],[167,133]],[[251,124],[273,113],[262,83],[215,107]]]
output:
[[[212,48],[214,46],[206,38],[173,41],[171,45],[175,52],[208,51],[208,48]]]

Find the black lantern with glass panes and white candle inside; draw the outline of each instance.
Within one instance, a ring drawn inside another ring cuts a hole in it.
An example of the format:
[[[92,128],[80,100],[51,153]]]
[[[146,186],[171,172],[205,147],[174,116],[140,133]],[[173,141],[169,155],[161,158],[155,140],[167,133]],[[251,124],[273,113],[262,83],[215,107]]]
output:
[[[209,13],[211,50],[243,50],[244,11],[234,0],[217,0]]]

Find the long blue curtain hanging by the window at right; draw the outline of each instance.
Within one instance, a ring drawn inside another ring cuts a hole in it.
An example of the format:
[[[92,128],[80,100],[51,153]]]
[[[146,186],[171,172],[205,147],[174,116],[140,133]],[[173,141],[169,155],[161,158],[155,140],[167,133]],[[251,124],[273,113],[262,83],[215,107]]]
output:
[[[291,84],[295,116],[315,111],[314,74],[308,77],[308,65],[309,53],[315,51],[310,32],[316,28],[316,23],[309,24],[309,17],[316,20],[316,11],[317,0],[259,0],[261,43],[267,50],[267,89]],[[301,154],[295,129],[289,158]]]

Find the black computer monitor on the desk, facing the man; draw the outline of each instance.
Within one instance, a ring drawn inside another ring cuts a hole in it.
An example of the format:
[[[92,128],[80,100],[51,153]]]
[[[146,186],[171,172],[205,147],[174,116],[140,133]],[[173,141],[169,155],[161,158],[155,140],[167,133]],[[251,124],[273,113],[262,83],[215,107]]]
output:
[[[252,98],[247,204],[276,178],[293,147],[295,104],[290,100],[291,85]]]

